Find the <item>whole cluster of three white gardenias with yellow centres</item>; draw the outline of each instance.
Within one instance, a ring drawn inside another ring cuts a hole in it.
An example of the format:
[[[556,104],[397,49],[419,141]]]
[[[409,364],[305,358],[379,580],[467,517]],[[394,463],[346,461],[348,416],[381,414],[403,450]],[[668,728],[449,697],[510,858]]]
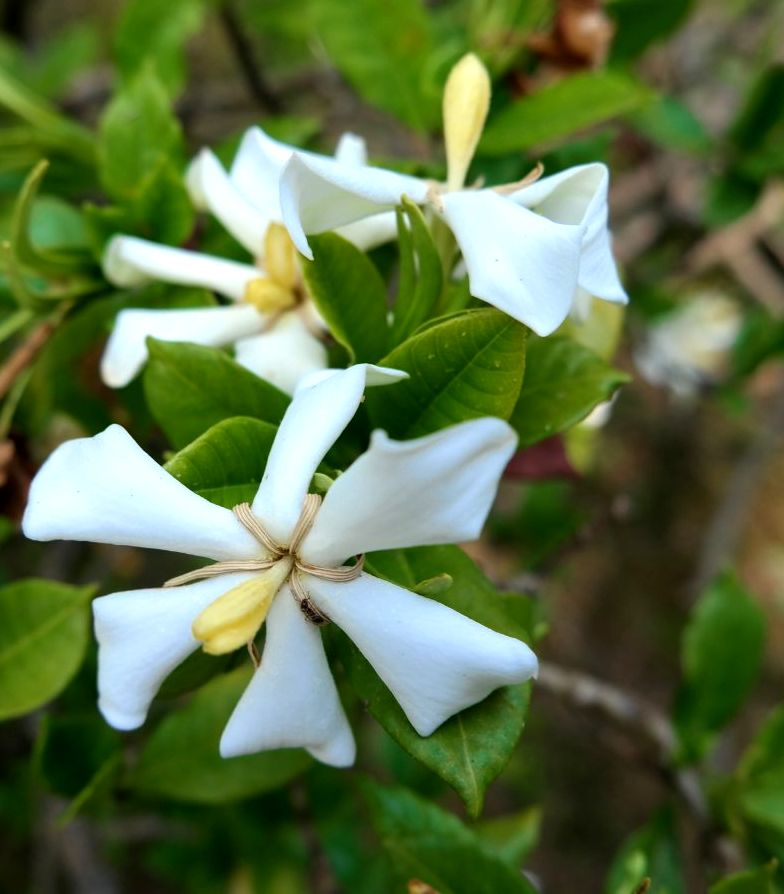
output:
[[[489,100],[487,73],[469,55],[445,91],[445,184],[369,166],[364,142],[350,134],[331,158],[253,128],[229,172],[203,150],[187,173],[190,194],[247,249],[249,263],[127,235],[110,241],[104,268],[114,284],[196,285],[229,303],[122,311],[103,357],[107,384],[138,373],[154,336],[233,346],[239,363],[293,395],[252,504],[233,511],[188,490],[119,426],[61,445],[36,477],[28,537],[215,563],[167,589],[94,603],[99,706],[113,726],[140,726],[162,681],[200,646],[223,654],[247,645],[253,654],[265,622],[263,655],[223,734],[225,756],[303,747],[329,764],[353,762],[318,630],[326,621],[351,637],[422,736],[497,687],[535,676],[523,642],[363,570],[374,550],[479,536],[516,445],[505,422],[475,419],[403,442],[376,431],[323,500],[309,493],[364,389],[405,376],[366,364],[326,368],[326,325],[297,256],[310,256],[309,235],[337,230],[363,249],[378,245],[394,238],[394,209],[407,196],[451,230],[471,294],[540,335],[586,293],[626,301],[610,249],[604,166],[464,186]]]

